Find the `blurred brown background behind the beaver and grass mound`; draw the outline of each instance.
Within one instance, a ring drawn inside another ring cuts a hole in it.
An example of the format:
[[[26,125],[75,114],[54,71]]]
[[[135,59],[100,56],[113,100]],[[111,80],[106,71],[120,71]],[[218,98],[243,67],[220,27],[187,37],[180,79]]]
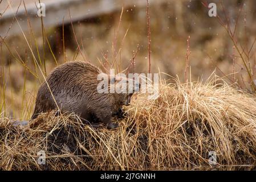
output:
[[[147,0],[41,0],[41,17],[38,3],[0,0],[1,113],[28,119],[43,75],[66,61],[116,61],[122,71],[134,60],[136,73],[148,72]],[[214,72],[251,92],[255,18],[254,0],[149,0],[151,72],[185,81],[188,63],[192,81]]]

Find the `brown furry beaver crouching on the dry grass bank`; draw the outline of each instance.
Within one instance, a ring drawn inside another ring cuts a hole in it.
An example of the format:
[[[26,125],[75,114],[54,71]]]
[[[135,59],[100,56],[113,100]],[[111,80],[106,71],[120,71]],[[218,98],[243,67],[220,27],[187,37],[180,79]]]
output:
[[[100,73],[103,73],[101,69],[83,61],[70,61],[56,67],[47,76],[47,82],[40,85],[31,119],[59,108],[61,113],[75,113],[90,123],[103,122],[108,129],[116,128],[118,124],[112,123],[111,117],[123,116],[122,106],[129,105],[133,93],[97,92]]]

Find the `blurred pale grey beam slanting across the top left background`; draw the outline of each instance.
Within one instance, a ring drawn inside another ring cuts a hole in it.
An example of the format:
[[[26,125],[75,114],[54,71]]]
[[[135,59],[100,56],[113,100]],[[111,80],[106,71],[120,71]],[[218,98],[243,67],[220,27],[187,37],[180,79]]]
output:
[[[150,5],[154,3],[162,3],[166,0],[149,0]],[[70,23],[71,14],[72,21],[92,18],[101,14],[111,13],[120,10],[122,7],[140,7],[147,5],[147,0],[40,0],[46,7],[45,16],[43,17],[44,27],[60,26],[64,23]],[[30,19],[34,31],[41,28],[41,18],[38,16],[38,0],[4,0],[0,4],[0,35],[8,36],[21,33],[28,30],[27,18]],[[19,6],[19,8],[18,8]],[[18,11],[17,11],[18,10]],[[27,11],[27,12],[26,12]],[[14,19],[14,15],[17,20]],[[11,26],[11,28],[10,28]]]

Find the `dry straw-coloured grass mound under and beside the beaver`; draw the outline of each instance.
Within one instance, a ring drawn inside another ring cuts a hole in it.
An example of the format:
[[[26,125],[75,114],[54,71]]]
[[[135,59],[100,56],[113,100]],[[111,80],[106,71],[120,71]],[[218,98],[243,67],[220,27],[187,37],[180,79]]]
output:
[[[216,84],[216,82],[222,84]],[[1,169],[173,169],[255,164],[256,98],[213,78],[202,84],[159,85],[160,97],[143,94],[127,107],[116,130],[94,129],[78,117],[41,114],[29,126],[1,117]],[[37,152],[46,151],[46,165]]]

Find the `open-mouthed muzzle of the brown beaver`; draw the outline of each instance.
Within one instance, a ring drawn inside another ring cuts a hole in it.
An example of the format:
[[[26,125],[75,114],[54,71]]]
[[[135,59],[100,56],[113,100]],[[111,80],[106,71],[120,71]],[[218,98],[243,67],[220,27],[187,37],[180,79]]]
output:
[[[125,86],[126,85],[126,86]],[[128,106],[133,93],[140,90],[140,83],[126,77],[115,78],[116,97],[120,105]]]

